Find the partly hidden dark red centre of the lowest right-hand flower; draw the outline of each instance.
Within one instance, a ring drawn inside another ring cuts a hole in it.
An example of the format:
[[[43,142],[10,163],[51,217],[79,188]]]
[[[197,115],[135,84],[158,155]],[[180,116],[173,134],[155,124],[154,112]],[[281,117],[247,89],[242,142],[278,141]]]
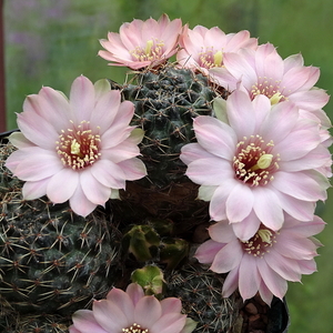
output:
[[[263,258],[270,252],[270,248],[276,243],[276,234],[279,234],[279,232],[274,232],[261,225],[253,238],[249,241],[241,242],[243,250],[253,256]]]

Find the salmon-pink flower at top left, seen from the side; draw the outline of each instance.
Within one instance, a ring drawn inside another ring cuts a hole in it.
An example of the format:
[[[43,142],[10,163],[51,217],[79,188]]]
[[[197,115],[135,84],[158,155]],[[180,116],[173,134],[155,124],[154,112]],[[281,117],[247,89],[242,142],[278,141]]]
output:
[[[140,69],[158,65],[172,57],[178,50],[178,39],[182,31],[182,21],[170,21],[163,14],[158,21],[133,20],[123,23],[119,33],[109,32],[108,40],[100,40],[105,50],[99,56],[111,61],[111,65],[127,65]]]

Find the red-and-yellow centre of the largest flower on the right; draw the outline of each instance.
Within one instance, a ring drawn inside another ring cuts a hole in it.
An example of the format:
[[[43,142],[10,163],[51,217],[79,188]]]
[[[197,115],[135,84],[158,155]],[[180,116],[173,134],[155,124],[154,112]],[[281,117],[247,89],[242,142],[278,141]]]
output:
[[[265,185],[274,179],[279,169],[279,154],[273,154],[273,141],[265,143],[260,135],[243,138],[233,158],[235,176],[251,186]]]

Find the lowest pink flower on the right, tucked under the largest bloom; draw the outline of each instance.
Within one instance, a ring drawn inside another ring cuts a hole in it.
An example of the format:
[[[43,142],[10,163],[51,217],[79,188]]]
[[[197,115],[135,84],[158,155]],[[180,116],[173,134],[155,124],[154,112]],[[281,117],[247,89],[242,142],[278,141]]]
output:
[[[249,240],[240,240],[228,221],[209,228],[211,240],[199,246],[195,258],[216,273],[228,273],[222,294],[230,296],[238,287],[243,300],[256,292],[271,304],[273,295],[282,299],[287,281],[300,282],[302,274],[316,271],[314,256],[321,243],[312,236],[324,229],[317,216],[300,222],[289,215],[283,228],[270,230],[263,224]]]

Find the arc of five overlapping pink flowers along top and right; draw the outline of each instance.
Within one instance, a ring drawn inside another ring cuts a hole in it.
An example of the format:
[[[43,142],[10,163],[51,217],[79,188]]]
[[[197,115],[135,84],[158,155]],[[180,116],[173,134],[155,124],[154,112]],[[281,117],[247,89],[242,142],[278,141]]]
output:
[[[282,299],[286,281],[315,271],[320,243],[312,236],[324,228],[314,210],[330,186],[332,140],[322,110],[329,95],[314,87],[320,70],[305,67],[301,54],[282,59],[249,31],[191,30],[167,16],[124,23],[101,44],[110,64],[131,69],[175,54],[180,68],[230,92],[226,101],[215,100],[215,118],[194,119],[198,142],[180,157],[215,222],[195,256],[229,272],[225,296],[239,287],[244,300],[256,292],[268,304],[273,295]]]

